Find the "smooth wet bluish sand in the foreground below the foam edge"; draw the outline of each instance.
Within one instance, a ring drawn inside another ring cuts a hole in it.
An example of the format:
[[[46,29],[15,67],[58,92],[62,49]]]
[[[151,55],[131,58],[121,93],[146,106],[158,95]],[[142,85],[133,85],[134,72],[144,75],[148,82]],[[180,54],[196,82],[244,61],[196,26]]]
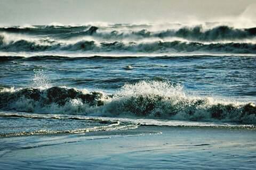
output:
[[[246,128],[140,126],[0,138],[0,169],[255,169]]]

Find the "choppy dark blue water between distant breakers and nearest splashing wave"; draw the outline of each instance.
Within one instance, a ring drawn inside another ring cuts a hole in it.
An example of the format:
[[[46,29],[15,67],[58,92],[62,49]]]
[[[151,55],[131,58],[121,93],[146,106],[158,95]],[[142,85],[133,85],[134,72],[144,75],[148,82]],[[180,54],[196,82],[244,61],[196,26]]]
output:
[[[0,83],[3,87],[25,88],[42,83],[114,93],[125,84],[153,80],[181,84],[188,93],[255,101],[255,63],[255,56],[38,56],[1,62]]]

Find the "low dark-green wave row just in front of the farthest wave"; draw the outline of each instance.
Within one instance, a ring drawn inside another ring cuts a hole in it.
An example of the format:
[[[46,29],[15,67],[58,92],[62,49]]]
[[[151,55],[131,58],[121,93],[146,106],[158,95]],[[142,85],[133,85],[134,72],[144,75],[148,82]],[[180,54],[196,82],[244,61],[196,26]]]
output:
[[[41,52],[41,51],[84,51],[84,52],[228,52],[256,53],[256,44],[252,43],[197,43],[197,42],[102,42],[80,41],[74,44],[59,42],[33,42],[19,40],[3,43],[0,37],[0,50],[5,52]]]

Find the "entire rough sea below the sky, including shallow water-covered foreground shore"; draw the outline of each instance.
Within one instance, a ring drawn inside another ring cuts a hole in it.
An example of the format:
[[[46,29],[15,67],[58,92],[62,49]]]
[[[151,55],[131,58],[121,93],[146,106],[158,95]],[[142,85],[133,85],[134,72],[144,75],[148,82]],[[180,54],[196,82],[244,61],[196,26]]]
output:
[[[1,27],[0,169],[254,169],[255,75],[256,28]]]

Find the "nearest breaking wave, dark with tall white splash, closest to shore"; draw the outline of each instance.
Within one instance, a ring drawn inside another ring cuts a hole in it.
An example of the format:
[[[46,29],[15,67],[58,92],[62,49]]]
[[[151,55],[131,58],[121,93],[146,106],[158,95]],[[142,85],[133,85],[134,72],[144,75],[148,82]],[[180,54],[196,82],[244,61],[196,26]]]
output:
[[[1,110],[35,113],[256,124],[253,103],[187,96],[181,86],[166,82],[127,84],[112,95],[65,87],[2,88],[0,103]]]

